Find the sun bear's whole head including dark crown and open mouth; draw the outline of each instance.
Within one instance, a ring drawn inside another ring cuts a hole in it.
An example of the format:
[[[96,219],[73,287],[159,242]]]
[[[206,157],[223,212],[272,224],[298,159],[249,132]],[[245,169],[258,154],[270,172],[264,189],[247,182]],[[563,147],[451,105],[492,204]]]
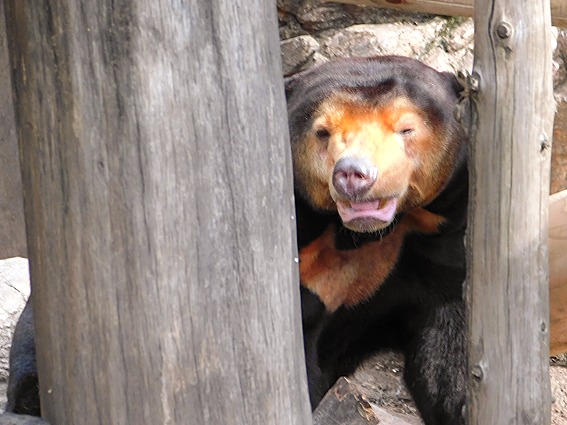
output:
[[[289,78],[297,192],[356,232],[380,231],[428,204],[461,154],[458,87],[400,57],[335,61]]]

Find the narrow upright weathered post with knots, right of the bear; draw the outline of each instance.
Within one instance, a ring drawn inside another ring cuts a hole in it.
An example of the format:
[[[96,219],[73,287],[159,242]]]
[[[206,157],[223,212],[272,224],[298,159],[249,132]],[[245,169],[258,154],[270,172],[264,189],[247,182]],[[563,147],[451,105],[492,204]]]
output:
[[[468,424],[550,422],[548,0],[476,0]]]

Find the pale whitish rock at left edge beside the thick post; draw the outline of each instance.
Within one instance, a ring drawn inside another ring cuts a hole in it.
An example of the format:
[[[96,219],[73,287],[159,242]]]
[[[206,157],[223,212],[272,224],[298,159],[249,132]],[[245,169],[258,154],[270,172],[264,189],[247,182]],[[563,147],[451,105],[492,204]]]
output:
[[[30,292],[28,260],[0,261],[0,411],[6,405],[8,356],[14,327]]]

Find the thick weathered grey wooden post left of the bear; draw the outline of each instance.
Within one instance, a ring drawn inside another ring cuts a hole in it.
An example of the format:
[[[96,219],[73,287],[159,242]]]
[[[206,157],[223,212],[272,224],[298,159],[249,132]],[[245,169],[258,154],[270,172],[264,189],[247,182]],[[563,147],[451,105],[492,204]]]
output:
[[[5,6],[45,417],[309,424],[275,6]]]

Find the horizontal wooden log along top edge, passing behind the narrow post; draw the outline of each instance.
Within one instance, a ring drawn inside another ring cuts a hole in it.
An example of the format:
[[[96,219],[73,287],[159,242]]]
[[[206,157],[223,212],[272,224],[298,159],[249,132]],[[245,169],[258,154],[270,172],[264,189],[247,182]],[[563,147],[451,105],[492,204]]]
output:
[[[431,13],[433,15],[473,16],[475,0],[324,0],[325,3],[345,3],[359,6],[378,6],[405,12]],[[479,6],[480,8],[480,6]],[[490,9],[482,9],[487,13]],[[551,0],[553,24],[567,27],[567,2]]]

